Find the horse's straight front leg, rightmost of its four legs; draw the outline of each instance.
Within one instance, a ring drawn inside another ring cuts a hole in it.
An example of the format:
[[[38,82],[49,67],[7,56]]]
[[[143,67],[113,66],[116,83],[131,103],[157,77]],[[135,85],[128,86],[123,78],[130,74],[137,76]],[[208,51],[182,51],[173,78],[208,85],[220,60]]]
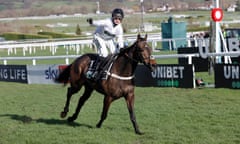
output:
[[[140,130],[138,128],[138,124],[137,124],[137,121],[136,121],[136,116],[135,116],[135,113],[134,113],[134,94],[128,95],[128,97],[125,97],[125,100],[126,100],[126,103],[127,103],[130,119],[132,121],[135,133],[136,134],[143,134],[142,132],[140,132]]]

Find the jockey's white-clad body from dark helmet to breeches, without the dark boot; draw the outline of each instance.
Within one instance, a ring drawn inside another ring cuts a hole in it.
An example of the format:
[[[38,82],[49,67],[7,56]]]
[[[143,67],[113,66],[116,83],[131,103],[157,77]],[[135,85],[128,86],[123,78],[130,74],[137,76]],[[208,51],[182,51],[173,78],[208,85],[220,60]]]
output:
[[[96,26],[93,43],[100,56],[106,57],[109,52],[111,54],[116,54],[119,52],[120,48],[123,48],[123,18],[123,10],[116,8],[112,11],[111,18],[103,20],[87,19],[90,25]]]

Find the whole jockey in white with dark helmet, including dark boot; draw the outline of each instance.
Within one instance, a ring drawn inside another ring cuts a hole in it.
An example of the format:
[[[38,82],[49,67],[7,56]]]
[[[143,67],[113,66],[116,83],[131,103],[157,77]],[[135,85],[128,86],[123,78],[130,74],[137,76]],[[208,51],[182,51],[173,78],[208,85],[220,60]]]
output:
[[[124,47],[122,20],[124,18],[123,10],[116,8],[112,11],[112,17],[103,20],[93,20],[88,18],[90,25],[96,26],[94,32],[93,43],[97,48],[97,53],[102,57],[113,54],[110,58],[106,58],[103,62],[98,63],[93,70],[86,73],[87,78],[98,80],[101,75],[111,65],[115,54],[119,53]]]

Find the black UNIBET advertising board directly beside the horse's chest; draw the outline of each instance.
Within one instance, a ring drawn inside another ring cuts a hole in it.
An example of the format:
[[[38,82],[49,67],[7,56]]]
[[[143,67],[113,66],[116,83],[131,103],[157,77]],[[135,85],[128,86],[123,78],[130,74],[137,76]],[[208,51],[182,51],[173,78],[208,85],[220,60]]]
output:
[[[193,65],[157,65],[151,72],[139,65],[135,72],[136,86],[194,88]]]

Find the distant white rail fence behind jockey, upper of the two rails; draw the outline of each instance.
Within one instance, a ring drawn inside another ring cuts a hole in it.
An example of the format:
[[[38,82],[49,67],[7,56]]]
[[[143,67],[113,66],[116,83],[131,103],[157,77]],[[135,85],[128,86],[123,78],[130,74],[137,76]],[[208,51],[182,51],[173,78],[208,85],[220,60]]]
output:
[[[126,35],[126,42],[129,44],[136,40],[136,35]],[[167,42],[169,45],[169,50],[176,50],[177,47],[175,43],[177,41],[186,41],[185,46],[190,46],[191,39],[188,38],[175,38],[175,39],[161,39],[161,34],[150,34],[148,35],[148,41],[151,43],[153,50],[158,50],[160,42]],[[197,40],[195,40],[197,43]],[[49,49],[51,55],[55,55],[58,48],[65,48],[66,54],[68,49],[75,50],[76,54],[83,54],[82,50],[85,47],[92,48],[92,39],[79,40],[79,39],[54,39],[54,40],[38,40],[38,41],[23,41],[23,42],[0,42],[0,50],[7,49],[8,55],[16,55],[17,52],[22,51],[23,56],[27,54],[27,52],[31,54],[35,54],[37,49],[45,50]]]

